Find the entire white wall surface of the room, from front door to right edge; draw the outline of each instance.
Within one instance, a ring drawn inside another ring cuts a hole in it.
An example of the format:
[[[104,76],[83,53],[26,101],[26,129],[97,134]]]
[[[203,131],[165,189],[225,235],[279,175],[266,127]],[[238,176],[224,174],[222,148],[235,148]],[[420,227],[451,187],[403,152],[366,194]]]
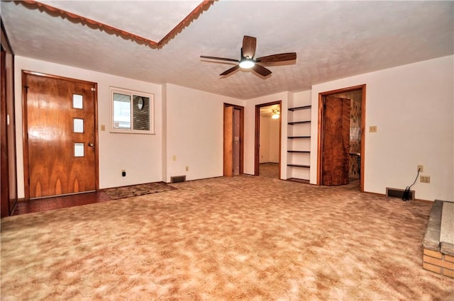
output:
[[[366,84],[365,191],[385,193],[386,187],[405,188],[414,181],[416,165],[431,183],[416,183],[416,198],[454,199],[454,57],[441,57],[317,84],[311,91],[282,92],[241,101],[173,84],[151,84],[15,57],[18,198],[23,198],[23,139],[21,70],[67,76],[98,84],[99,186],[188,180],[223,174],[223,103],[245,106],[245,174],[254,174],[255,105],[282,101],[281,178],[287,178],[287,108],[306,105],[311,94],[311,183],[316,183],[319,93]],[[109,132],[109,87],[155,95],[156,135]],[[301,104],[300,104],[301,102]],[[304,104],[302,103],[304,102]],[[175,156],[175,161],[173,161]],[[189,171],[186,171],[188,166]],[[121,177],[121,169],[127,176]],[[291,175],[290,175],[291,176]]]

